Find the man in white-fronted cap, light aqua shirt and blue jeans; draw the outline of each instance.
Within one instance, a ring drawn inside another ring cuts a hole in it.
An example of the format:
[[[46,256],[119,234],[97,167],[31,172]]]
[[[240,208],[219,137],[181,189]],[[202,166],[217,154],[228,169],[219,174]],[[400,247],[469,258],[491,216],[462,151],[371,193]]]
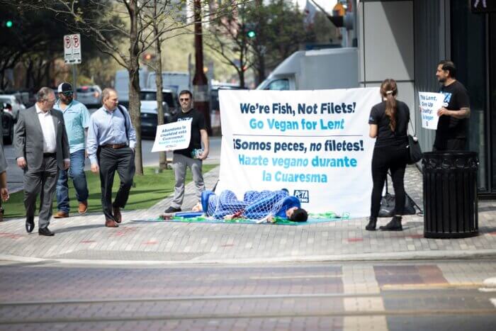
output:
[[[60,170],[57,181],[57,213],[53,218],[69,217],[69,185],[68,176],[72,179],[76,198],[79,202],[79,213],[88,210],[88,185],[84,174],[84,140],[88,133],[89,111],[84,104],[74,100],[74,91],[69,83],[59,85],[59,100],[53,106],[64,115],[65,130],[69,138],[71,166],[69,170]]]

